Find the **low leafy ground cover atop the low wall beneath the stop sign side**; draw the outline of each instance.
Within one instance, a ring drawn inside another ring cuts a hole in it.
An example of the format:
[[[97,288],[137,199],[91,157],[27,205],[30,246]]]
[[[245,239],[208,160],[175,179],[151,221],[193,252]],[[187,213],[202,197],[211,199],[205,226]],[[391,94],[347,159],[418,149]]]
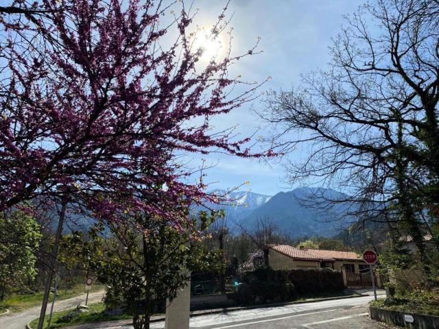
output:
[[[379,298],[369,304],[385,310],[439,316],[439,291],[415,290],[395,297]]]

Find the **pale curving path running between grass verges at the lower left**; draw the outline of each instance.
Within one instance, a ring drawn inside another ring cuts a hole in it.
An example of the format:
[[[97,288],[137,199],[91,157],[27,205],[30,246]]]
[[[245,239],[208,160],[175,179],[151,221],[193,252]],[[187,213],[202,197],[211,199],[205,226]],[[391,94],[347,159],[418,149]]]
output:
[[[97,291],[88,295],[88,303],[99,302],[104,296],[104,291]],[[80,303],[85,302],[85,294],[77,297],[70,298],[69,300],[55,301],[54,312],[58,310],[64,310],[66,308],[72,308]],[[51,304],[47,305],[47,313],[50,311]],[[1,329],[24,329],[26,324],[33,319],[40,316],[40,308],[33,307],[28,310],[24,310],[20,313],[8,313],[7,315],[0,316],[0,328]]]

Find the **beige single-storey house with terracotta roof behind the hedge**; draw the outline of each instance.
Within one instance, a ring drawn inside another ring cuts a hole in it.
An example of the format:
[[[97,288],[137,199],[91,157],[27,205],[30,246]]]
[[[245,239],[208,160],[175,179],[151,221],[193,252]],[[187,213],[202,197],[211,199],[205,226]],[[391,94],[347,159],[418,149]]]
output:
[[[310,249],[300,246],[271,244],[269,263],[272,269],[322,269],[329,267],[337,271],[359,273],[369,266],[355,252],[340,250]]]

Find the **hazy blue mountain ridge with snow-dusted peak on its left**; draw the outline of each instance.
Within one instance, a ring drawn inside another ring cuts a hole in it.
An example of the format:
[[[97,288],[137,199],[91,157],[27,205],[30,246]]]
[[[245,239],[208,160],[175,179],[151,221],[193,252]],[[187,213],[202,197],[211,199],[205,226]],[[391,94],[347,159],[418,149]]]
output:
[[[211,193],[227,194],[224,190]],[[335,236],[355,221],[346,216],[351,204],[342,202],[348,199],[348,195],[332,188],[300,187],[273,196],[237,191],[228,193],[228,196],[235,197],[235,205],[215,205],[214,209],[226,210],[229,217],[249,231],[257,229],[258,221],[268,219],[276,224],[279,233],[291,238]],[[248,200],[247,207],[240,206]],[[329,200],[339,203],[331,204]]]

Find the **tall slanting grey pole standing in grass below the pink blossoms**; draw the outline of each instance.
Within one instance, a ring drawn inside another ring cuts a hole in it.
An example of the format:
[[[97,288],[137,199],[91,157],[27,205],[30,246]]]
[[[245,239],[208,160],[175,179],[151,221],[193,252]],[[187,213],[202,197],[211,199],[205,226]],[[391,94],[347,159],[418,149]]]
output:
[[[56,230],[55,242],[49,259],[50,268],[49,268],[49,273],[47,275],[47,281],[44,290],[43,304],[41,305],[40,319],[38,319],[38,327],[37,327],[38,329],[43,329],[44,317],[46,315],[46,309],[47,309],[47,302],[49,301],[49,295],[50,295],[50,286],[52,283],[52,278],[54,277],[56,257],[58,256],[58,247],[60,244],[62,225],[64,224],[64,217],[66,215],[67,195],[64,193],[62,193],[61,195],[61,202],[62,204],[60,211],[60,219],[58,220],[58,228]]]

